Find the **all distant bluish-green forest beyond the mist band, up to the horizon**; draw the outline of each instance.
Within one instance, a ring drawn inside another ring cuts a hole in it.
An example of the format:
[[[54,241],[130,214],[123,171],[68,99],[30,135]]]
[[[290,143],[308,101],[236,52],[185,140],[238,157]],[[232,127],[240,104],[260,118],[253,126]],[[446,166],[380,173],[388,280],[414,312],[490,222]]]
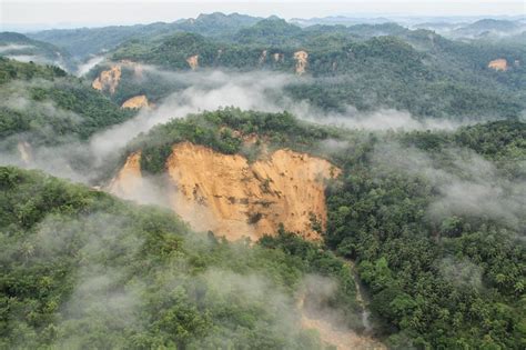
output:
[[[418,118],[482,120],[518,117],[526,108],[526,49],[512,37],[459,41],[396,23],[300,28],[276,17],[212,13],[173,23],[42,31],[32,38],[79,58],[109,50],[110,62],[98,66],[90,79],[119,60],[189,71],[192,56],[199,56],[201,71],[294,73],[294,52],[305,50],[306,76],[313,79],[291,79],[284,94],[324,111],[391,108]],[[508,69],[489,69],[495,59],[506,59]],[[122,103],[146,94],[159,102],[185,88],[182,80],[149,72],[131,79],[128,72],[111,99]]]

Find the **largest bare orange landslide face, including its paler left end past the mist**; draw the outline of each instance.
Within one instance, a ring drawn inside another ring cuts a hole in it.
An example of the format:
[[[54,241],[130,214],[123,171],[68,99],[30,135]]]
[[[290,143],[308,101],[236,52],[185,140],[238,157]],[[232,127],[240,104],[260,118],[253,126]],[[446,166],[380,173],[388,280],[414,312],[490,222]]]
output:
[[[193,229],[211,230],[229,240],[257,240],[280,223],[306,239],[320,240],[313,228],[326,223],[324,180],[340,170],[328,161],[277,150],[254,163],[190,142],[178,143],[166,161],[171,208]],[[140,190],[140,153],[133,153],[110,186],[127,198]]]

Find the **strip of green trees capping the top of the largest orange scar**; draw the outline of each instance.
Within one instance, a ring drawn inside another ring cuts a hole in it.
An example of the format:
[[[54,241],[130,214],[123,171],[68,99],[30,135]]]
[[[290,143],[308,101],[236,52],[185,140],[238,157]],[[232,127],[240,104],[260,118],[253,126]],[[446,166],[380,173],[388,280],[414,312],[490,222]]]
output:
[[[203,144],[225,154],[242,153],[249,160],[255,160],[262,141],[244,144],[244,138],[253,134],[265,140],[271,149],[287,147],[307,151],[317,141],[336,134],[336,131],[301,122],[289,112],[265,113],[226,108],[156,126],[148,134],[130,142],[124,153],[141,150],[142,170],[150,173],[162,172],[172,146],[182,141]]]

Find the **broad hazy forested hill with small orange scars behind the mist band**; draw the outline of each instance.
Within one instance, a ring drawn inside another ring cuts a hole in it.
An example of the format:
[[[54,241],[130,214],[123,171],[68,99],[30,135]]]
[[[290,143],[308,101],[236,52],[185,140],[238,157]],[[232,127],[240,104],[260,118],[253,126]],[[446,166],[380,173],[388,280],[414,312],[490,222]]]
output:
[[[109,54],[169,71],[250,72],[270,70],[291,78],[284,93],[325,111],[382,108],[416,117],[495,119],[519,117],[526,108],[526,51],[519,46],[454,42],[428,31],[398,27],[396,36],[355,38],[351,29],[300,29],[280,19],[260,21],[232,38],[211,39],[175,33],[158,40],[131,40]],[[505,64],[496,70],[488,64]],[[91,78],[115,63],[97,67]],[[153,100],[169,94],[155,89],[159,77],[134,83],[122,79],[118,100],[151,91]],[[337,79],[335,79],[337,78]],[[135,84],[135,86],[134,86]],[[182,81],[184,84],[184,80]],[[180,83],[181,86],[181,83]]]

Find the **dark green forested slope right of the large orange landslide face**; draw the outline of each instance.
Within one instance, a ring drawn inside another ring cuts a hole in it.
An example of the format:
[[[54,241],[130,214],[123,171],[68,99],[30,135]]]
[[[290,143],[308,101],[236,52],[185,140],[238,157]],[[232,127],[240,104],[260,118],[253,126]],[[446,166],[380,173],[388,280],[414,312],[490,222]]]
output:
[[[344,156],[347,174],[328,191],[326,243],[357,261],[371,307],[397,330],[393,348],[407,339],[416,348],[524,348],[525,137],[525,123],[495,122],[372,137]],[[378,161],[377,148],[393,138],[402,153]],[[496,174],[484,180],[481,171]],[[458,187],[434,178],[441,174]],[[499,187],[505,193],[492,191]],[[469,204],[469,191],[495,197],[475,194]],[[516,202],[499,201],[506,196]],[[495,206],[477,211],[482,201]]]

